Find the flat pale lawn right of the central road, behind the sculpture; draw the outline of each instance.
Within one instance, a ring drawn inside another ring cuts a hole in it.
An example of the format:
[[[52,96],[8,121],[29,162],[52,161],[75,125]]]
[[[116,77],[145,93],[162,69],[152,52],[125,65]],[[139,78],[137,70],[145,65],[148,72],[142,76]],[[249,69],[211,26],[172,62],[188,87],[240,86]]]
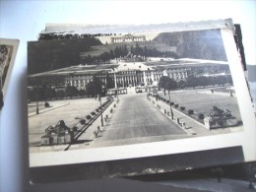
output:
[[[241,116],[235,96],[211,94],[210,90],[209,94],[200,91],[202,90],[172,91],[165,94],[165,96],[162,92],[159,93],[159,99],[202,124],[204,124],[204,118],[208,116],[214,106],[236,117],[238,123],[241,124]]]

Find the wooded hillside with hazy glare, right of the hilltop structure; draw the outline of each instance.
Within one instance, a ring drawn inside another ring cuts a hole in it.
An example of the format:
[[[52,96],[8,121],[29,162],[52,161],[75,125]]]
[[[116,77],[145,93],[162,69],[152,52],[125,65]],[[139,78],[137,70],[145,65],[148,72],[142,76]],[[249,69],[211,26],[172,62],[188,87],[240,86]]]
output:
[[[226,61],[220,30],[161,32],[153,41],[176,46],[176,53],[181,58]]]

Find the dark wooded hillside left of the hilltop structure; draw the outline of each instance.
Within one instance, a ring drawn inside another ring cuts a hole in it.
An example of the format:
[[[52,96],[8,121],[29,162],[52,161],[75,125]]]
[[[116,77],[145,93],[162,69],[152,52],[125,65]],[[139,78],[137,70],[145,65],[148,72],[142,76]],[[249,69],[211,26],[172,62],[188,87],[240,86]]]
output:
[[[102,43],[95,37],[41,40],[28,44],[28,73],[40,73],[80,64],[80,52]]]

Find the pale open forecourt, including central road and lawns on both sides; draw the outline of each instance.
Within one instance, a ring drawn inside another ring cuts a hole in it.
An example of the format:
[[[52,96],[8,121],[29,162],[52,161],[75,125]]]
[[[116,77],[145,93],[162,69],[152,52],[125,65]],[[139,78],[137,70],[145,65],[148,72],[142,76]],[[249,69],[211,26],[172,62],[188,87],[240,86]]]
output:
[[[160,93],[160,96],[163,96],[163,93]],[[168,95],[166,96],[168,97]],[[170,98],[175,103],[182,103],[186,108],[190,107],[200,112],[209,110],[209,107],[213,104],[221,104],[230,109],[240,120],[235,96],[213,95],[208,90],[187,90],[171,92]],[[102,101],[104,99],[102,98]],[[115,100],[117,99],[119,99],[117,106],[113,108],[112,113],[108,114],[109,118],[104,120],[104,125],[100,126],[97,136],[95,135],[95,129],[92,127],[95,128],[100,124],[97,122],[99,119],[96,120],[97,125],[90,126],[78,138],[78,141],[70,146],[69,150],[169,141],[242,130],[240,124],[236,127],[210,131],[206,129],[204,124],[183,114],[174,107],[172,107],[174,115],[172,119],[170,115],[163,112],[164,110],[170,111],[167,103],[152,96],[148,99],[146,93],[135,94],[132,88],[127,95],[115,97]],[[197,99],[201,101],[199,102]],[[41,107],[37,115],[34,110],[29,109],[31,147],[36,148],[40,145],[40,137],[49,125],[64,120],[67,126],[72,127],[78,122],[78,118],[85,118],[99,104],[99,101],[95,98],[76,98],[50,101],[51,107]],[[160,108],[157,107],[158,105]],[[31,104],[31,107],[34,106]],[[105,115],[106,113],[104,113]],[[186,124],[185,128],[177,125],[175,121],[177,118]],[[63,150],[63,148],[60,148],[60,150]],[[50,151],[49,147],[47,151]]]

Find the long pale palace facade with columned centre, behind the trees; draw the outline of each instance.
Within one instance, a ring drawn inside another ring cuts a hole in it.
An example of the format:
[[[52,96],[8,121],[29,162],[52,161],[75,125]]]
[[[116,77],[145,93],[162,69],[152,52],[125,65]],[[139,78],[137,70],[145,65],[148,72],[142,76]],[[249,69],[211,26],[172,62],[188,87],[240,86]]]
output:
[[[86,90],[87,84],[96,79],[107,89],[117,89],[157,86],[161,76],[168,76],[175,81],[185,80],[188,69],[180,65],[154,65],[154,62],[79,65],[30,75],[29,84],[43,82],[55,88],[74,86],[78,90]]]

